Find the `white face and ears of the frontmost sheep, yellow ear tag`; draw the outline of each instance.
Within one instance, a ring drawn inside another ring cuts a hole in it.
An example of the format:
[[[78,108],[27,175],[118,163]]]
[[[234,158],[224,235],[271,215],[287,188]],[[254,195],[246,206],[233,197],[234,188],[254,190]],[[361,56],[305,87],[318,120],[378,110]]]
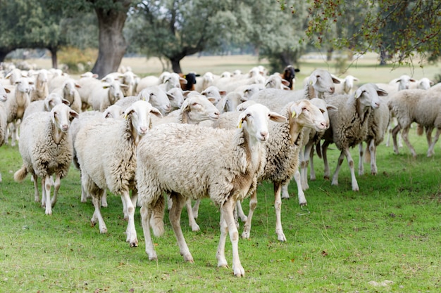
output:
[[[268,141],[268,121],[286,122],[286,118],[276,112],[270,111],[259,103],[250,105],[239,116],[238,128],[245,127],[250,138],[259,142]],[[245,122],[245,124],[244,124]],[[242,125],[244,124],[244,125]]]

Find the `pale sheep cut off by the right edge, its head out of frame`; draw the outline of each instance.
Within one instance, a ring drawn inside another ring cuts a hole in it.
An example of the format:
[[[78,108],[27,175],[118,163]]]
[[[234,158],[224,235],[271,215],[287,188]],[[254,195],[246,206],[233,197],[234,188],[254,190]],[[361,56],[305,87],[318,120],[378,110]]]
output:
[[[397,126],[392,129],[392,138],[394,141],[394,152],[399,153],[397,147],[397,134],[402,130],[402,139],[409,148],[411,155],[416,157],[414,147],[411,145],[408,134],[412,122],[416,122],[428,129],[426,138],[428,141],[427,156],[431,157],[434,153],[435,143],[440,136],[441,131],[441,92],[437,88],[409,89],[399,91],[390,97],[387,105],[397,118]],[[432,141],[432,131],[436,128],[437,132]]]

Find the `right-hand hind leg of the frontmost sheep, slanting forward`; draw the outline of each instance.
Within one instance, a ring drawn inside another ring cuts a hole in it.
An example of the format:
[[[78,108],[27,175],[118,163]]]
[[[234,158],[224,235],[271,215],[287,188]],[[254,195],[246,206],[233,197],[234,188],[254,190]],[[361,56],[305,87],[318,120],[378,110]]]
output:
[[[187,242],[185,242],[184,235],[182,234],[182,229],[180,228],[180,214],[187,200],[185,199],[185,197],[182,197],[182,195],[178,193],[172,193],[170,197],[173,198],[173,205],[170,209],[170,213],[168,214],[168,219],[170,220],[170,224],[173,227],[173,231],[175,232],[175,237],[178,241],[179,252],[182,256],[184,256],[185,261],[194,263],[193,256],[190,253],[190,249],[188,249]]]

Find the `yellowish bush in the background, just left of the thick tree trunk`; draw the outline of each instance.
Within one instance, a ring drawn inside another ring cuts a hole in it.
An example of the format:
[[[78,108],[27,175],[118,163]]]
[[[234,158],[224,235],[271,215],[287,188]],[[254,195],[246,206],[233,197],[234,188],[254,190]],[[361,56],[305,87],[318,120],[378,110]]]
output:
[[[67,66],[66,71],[74,74],[92,70],[97,56],[97,49],[93,48],[80,50],[75,47],[63,47],[58,52],[58,59]]]

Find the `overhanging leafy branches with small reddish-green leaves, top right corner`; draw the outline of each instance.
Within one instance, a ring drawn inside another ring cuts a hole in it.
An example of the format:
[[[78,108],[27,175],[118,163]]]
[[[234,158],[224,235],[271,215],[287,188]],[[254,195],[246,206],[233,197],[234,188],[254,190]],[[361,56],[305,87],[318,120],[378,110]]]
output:
[[[288,1],[280,0],[286,7]],[[332,41],[334,48],[352,48],[363,54],[387,52],[394,63],[411,62],[415,53],[425,59],[440,56],[441,1],[435,0],[309,0],[306,41],[317,46]],[[347,16],[359,13],[353,27]],[[348,34],[324,39],[335,25]],[[361,41],[363,40],[363,41]]]

